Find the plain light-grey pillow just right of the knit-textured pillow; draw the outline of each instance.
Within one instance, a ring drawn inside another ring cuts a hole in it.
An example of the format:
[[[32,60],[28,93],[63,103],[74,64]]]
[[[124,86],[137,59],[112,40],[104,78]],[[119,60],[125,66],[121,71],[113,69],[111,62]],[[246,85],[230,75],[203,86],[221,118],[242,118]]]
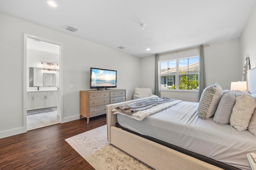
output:
[[[218,125],[228,125],[232,109],[236,103],[236,95],[230,90],[224,90],[213,121]]]

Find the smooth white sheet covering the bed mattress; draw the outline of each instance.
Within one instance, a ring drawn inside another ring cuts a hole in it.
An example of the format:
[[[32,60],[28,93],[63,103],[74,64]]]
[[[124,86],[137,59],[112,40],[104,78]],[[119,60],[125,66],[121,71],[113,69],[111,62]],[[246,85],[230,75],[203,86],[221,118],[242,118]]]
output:
[[[240,169],[250,169],[246,154],[256,153],[256,137],[248,130],[237,131],[230,125],[218,125],[212,118],[202,120],[197,108],[198,103],[180,102],[142,121],[120,114],[117,119],[121,126],[142,135]]]

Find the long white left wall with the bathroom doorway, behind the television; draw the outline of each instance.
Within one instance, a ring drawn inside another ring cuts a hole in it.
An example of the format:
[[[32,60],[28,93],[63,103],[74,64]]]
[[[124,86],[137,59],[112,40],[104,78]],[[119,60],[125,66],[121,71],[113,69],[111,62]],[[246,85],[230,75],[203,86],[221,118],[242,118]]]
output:
[[[132,98],[134,88],[140,86],[138,57],[6,14],[0,13],[0,21],[0,138],[23,133],[26,126],[23,125],[24,33],[63,43],[64,122],[79,119],[79,91],[90,88],[90,67],[117,70],[117,88],[126,89],[127,100]],[[70,84],[74,84],[74,88],[70,88]]]

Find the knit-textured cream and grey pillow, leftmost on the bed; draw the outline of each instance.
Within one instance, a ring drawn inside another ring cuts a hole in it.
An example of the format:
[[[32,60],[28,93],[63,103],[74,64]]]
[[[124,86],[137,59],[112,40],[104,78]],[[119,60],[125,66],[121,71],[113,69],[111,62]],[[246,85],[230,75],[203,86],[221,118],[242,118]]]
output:
[[[212,117],[218,107],[222,95],[223,91],[218,83],[205,88],[197,109],[198,117],[201,119],[209,119]]]

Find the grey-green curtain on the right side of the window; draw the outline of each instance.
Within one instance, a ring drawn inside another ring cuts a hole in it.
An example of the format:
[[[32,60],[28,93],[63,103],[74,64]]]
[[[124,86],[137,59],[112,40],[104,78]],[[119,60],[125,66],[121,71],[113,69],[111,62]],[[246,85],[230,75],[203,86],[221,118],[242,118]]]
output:
[[[198,80],[198,101],[201,98],[202,92],[204,91],[206,82],[205,82],[205,73],[204,73],[204,47],[200,45],[200,53],[199,53],[199,80]]]

